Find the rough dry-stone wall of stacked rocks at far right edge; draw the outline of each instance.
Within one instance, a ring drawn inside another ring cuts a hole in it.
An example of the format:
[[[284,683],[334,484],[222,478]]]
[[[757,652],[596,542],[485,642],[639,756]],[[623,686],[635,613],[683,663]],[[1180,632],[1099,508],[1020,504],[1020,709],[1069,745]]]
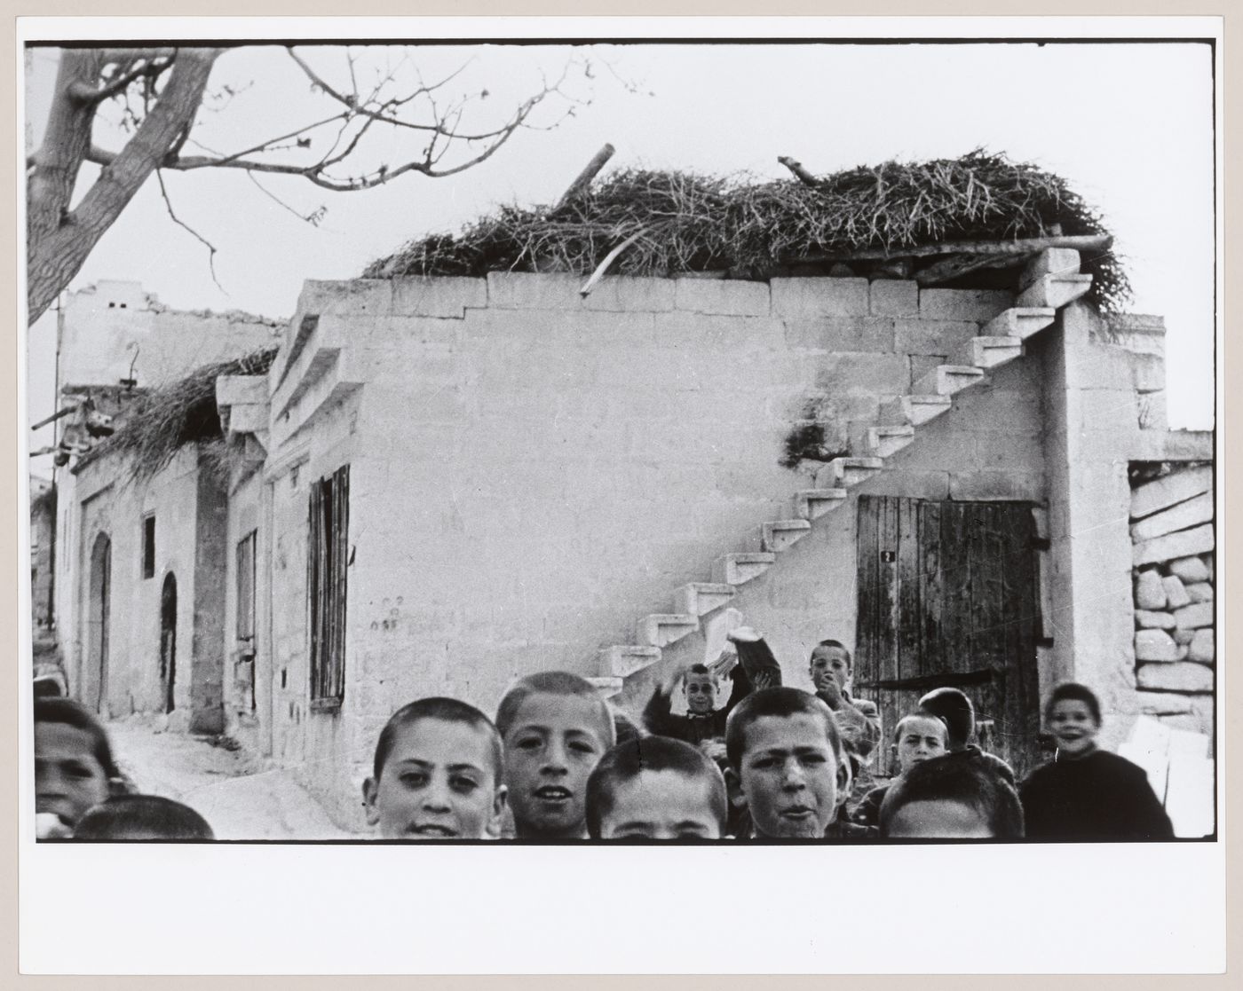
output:
[[[1162,722],[1212,735],[1213,468],[1136,463],[1131,477],[1136,687]]]

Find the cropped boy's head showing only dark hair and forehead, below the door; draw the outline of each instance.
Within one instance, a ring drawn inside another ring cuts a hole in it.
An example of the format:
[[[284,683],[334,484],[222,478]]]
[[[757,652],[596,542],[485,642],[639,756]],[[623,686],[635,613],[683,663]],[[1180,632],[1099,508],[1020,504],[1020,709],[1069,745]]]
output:
[[[932,758],[899,777],[880,806],[883,837],[1017,839],[1023,836],[1018,795],[984,766]]]

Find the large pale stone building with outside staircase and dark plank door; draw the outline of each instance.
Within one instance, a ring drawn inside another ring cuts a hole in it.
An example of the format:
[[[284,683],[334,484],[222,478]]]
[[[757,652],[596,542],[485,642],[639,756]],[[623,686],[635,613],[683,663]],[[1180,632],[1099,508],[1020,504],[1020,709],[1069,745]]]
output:
[[[400,704],[495,712],[515,677],[566,668],[636,710],[741,615],[791,684],[819,640],[853,643],[886,731],[927,688],[963,687],[1021,771],[1063,678],[1099,690],[1109,746],[1145,714],[1212,736],[1212,487],[1196,486],[1213,438],[1166,430],[1161,322],[1106,329],[1076,262],[1045,252],[1018,292],[307,283],[268,371],[216,381],[227,481],[208,491],[188,450],[144,497],[181,528],[164,541],[179,610],[206,586],[222,599],[225,730],[354,825]],[[793,436],[819,459],[784,467]],[[80,533],[107,515],[77,504]],[[124,532],[138,560],[140,528]],[[204,540],[210,563],[191,563]],[[135,607],[144,673],[116,689],[137,708],[159,702],[153,602]]]

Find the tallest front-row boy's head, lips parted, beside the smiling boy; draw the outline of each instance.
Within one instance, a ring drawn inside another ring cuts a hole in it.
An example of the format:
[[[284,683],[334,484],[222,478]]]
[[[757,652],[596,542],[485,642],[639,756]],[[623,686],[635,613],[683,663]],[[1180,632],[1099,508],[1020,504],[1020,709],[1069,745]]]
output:
[[[530,674],[496,710],[506,784],[520,837],[587,835],[587,779],[613,748],[615,729],[595,687],[577,674]]]

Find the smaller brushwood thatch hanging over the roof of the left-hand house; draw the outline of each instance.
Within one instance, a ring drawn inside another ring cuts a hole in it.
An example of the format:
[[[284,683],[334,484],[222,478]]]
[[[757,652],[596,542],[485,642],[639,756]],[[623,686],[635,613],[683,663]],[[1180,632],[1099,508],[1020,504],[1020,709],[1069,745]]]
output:
[[[138,396],[126,411],[126,423],[89,453],[78,467],[111,453],[129,455],[133,478],[148,479],[164,468],[188,443],[224,441],[216,409],[216,379],[221,375],[262,375],[277,349],[261,348],[241,358],[203,365],[184,379]]]

